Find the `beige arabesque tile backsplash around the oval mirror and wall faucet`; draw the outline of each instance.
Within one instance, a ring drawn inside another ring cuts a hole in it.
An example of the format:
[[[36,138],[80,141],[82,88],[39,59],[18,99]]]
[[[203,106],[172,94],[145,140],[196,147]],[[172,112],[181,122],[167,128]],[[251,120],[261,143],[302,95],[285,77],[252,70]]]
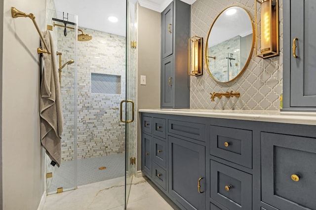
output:
[[[279,110],[282,94],[282,0],[279,0],[279,49],[280,55],[270,59],[255,56],[244,72],[234,81],[221,83],[209,74],[205,64],[205,43],[209,29],[217,15],[229,6],[240,6],[255,22],[254,0],[197,0],[191,5],[191,35],[203,37],[203,75],[191,76],[191,108],[199,109],[260,109]],[[210,93],[238,91],[239,98],[215,99]]]

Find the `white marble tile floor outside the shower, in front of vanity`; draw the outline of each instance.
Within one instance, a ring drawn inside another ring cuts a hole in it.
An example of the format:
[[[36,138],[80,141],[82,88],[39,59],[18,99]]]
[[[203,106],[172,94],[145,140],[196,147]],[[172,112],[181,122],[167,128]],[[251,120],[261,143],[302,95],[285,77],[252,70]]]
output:
[[[125,177],[119,177],[48,195],[42,210],[124,210],[124,182]],[[178,209],[162,196],[148,178],[133,177],[127,210]]]

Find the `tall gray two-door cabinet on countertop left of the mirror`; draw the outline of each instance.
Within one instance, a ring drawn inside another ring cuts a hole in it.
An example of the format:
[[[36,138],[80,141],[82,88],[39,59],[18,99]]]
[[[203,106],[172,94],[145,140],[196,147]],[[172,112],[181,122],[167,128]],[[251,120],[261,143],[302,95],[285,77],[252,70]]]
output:
[[[190,107],[190,22],[191,6],[181,0],[161,13],[161,108]]]

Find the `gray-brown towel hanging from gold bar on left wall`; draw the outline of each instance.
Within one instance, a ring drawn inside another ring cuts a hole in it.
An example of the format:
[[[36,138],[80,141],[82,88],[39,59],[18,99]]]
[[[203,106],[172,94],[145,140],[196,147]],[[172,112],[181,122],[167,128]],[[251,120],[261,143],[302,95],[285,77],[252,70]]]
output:
[[[43,33],[51,54],[43,53],[44,69],[40,82],[40,141],[57,166],[61,162],[63,111],[56,53],[49,31]]]

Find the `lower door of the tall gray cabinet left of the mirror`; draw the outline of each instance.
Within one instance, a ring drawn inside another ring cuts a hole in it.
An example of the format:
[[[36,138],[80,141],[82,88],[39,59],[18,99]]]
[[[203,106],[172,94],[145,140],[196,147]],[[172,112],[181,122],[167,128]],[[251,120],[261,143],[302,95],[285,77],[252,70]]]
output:
[[[162,92],[161,92],[161,107],[172,107],[174,102],[173,86],[173,56],[162,60]]]

